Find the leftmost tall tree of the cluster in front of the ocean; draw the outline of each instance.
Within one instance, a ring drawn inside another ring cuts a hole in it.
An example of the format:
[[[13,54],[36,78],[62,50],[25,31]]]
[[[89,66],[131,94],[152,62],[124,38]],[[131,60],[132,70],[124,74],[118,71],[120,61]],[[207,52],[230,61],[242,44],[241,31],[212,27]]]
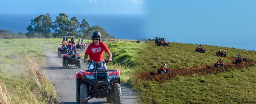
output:
[[[49,13],[46,15],[40,15],[34,20],[31,20],[28,30],[28,38],[50,38],[51,37],[51,17]]]

